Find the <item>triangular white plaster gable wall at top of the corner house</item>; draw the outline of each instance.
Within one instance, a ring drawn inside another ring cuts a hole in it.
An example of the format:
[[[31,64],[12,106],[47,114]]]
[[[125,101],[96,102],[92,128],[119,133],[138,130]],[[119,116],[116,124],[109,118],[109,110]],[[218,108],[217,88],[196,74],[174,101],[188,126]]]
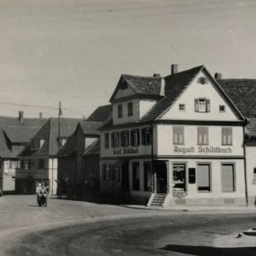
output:
[[[222,121],[234,121],[237,120],[234,112],[229,108],[229,105],[224,98],[219,94],[219,91],[213,87],[210,80],[206,84],[200,84],[197,82],[199,77],[205,77],[207,75],[203,72],[197,74],[197,77],[193,80],[186,91],[177,99],[170,110],[160,118],[162,120],[222,120]],[[195,112],[195,99],[207,98],[210,100],[210,112]],[[179,111],[179,104],[185,104],[186,110]],[[219,105],[226,106],[226,112],[219,112]]]

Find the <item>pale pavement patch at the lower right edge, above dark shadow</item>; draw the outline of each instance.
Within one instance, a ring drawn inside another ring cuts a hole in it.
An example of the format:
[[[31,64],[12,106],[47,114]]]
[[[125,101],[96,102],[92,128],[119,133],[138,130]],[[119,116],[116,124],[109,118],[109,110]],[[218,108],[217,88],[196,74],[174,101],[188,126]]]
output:
[[[238,231],[229,235],[219,235],[214,240],[214,246],[219,248],[256,249],[256,228]]]

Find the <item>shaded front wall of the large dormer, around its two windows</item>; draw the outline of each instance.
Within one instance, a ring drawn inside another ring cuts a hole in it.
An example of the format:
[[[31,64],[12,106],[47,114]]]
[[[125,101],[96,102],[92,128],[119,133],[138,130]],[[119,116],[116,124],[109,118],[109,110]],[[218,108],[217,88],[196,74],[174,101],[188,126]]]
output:
[[[128,102],[133,102],[133,115],[128,116]],[[123,117],[118,117],[118,105],[123,105]],[[112,104],[113,124],[133,123],[139,120],[139,100],[122,101]]]

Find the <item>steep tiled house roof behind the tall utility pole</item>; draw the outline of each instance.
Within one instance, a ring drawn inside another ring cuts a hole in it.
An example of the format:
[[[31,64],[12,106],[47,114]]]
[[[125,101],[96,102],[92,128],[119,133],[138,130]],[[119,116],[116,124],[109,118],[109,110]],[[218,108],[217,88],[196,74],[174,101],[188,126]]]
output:
[[[32,140],[43,139],[44,144],[34,150],[29,144],[26,149],[22,152],[21,156],[48,156],[57,155],[59,151],[58,138],[59,130],[60,137],[67,138],[74,133],[77,124],[81,119],[75,118],[61,118],[60,129],[58,118],[49,118],[48,122],[37,132]]]

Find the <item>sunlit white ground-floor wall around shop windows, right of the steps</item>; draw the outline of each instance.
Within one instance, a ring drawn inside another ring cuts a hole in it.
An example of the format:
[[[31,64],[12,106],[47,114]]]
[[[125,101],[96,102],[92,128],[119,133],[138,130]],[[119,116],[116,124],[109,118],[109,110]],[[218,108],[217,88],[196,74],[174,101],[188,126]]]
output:
[[[187,196],[186,198],[244,198],[245,201],[245,178],[243,160],[224,160],[224,159],[174,159],[169,161],[169,184],[172,196],[173,187],[173,163],[185,163],[187,165]],[[206,163],[211,166],[211,191],[202,192],[197,190],[197,164]],[[222,192],[221,187],[221,164],[235,165],[235,191]],[[188,184],[188,168],[196,168],[196,183]]]

